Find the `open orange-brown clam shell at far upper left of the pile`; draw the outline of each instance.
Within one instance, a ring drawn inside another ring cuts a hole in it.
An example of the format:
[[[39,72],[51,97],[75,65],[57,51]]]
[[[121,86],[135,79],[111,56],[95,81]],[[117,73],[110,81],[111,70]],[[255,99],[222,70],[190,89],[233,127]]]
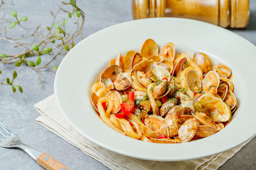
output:
[[[100,75],[100,81],[108,89],[114,89],[113,81],[116,80],[117,76],[122,73],[120,66],[113,65],[107,67]]]

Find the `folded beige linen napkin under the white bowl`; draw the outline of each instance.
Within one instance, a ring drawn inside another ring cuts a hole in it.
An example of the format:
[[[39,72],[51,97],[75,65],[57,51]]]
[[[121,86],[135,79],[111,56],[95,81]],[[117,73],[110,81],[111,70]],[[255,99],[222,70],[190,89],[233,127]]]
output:
[[[211,157],[183,162],[156,162],[134,159],[106,150],[84,138],[65,120],[57,106],[54,95],[36,103],[34,107],[41,114],[40,117],[36,118],[38,124],[54,132],[54,134],[76,146],[82,152],[90,155],[90,157],[102,162],[110,169],[217,169],[248,143],[246,141],[246,143],[232,150]]]

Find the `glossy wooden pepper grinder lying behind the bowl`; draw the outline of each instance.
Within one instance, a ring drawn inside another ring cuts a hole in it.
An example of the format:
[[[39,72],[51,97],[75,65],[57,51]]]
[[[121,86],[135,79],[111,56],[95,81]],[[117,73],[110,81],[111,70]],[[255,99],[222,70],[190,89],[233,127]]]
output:
[[[181,17],[244,28],[250,8],[249,0],[132,0],[132,13],[134,19]]]

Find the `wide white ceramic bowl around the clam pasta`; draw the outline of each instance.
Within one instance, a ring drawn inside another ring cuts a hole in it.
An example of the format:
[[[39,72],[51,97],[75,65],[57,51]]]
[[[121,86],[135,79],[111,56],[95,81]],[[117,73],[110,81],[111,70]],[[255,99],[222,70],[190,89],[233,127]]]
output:
[[[145,39],[161,47],[173,42],[178,52],[207,53],[214,62],[230,66],[239,108],[220,132],[189,143],[157,144],[138,141],[104,124],[92,108],[90,85],[118,53],[140,52]],[[177,161],[229,150],[255,136],[256,47],[227,29],[196,20],[150,18],[113,25],[77,44],[60,64],[54,91],[68,122],[97,145],[130,157]]]

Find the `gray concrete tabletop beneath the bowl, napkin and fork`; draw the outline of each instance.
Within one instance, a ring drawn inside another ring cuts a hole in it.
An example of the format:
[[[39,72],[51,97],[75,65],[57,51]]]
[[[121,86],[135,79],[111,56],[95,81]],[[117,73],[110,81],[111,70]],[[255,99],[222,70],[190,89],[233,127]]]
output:
[[[13,8],[19,11],[19,16],[26,14],[29,19],[44,25],[51,19],[48,11],[56,9],[57,3],[60,4],[60,1],[15,1]],[[236,32],[256,45],[256,1],[251,0],[250,3],[250,25],[246,29],[231,31]],[[84,29],[86,36],[110,25],[132,20],[131,1],[87,0],[79,1],[78,4],[86,13]],[[16,34],[19,34],[19,32],[16,32]],[[0,53],[10,52],[12,49],[13,46],[0,41]],[[54,65],[59,64],[61,59],[63,57],[58,57]],[[19,94],[19,92],[13,94],[10,87],[0,87],[0,122],[4,122],[13,132],[19,134],[24,143],[52,155],[52,157],[60,160],[71,169],[108,169],[97,160],[92,159],[76,147],[36,124],[35,119],[39,114],[36,113],[33,104],[53,94],[54,73],[51,71],[42,73],[42,77],[45,80],[43,83],[44,88],[42,88],[38,85],[37,73],[29,68],[13,68],[13,66],[0,64],[0,69],[4,73],[8,73],[8,76],[11,76],[13,69],[16,69],[19,73],[16,83],[24,87],[24,94]],[[0,81],[3,80],[1,78],[3,77],[0,76]],[[239,132],[237,132],[237,135],[239,136]],[[255,169],[255,167],[256,138],[252,139],[220,169]],[[7,150],[0,147],[0,169],[42,169],[42,167],[38,166],[29,155],[20,150]]]

